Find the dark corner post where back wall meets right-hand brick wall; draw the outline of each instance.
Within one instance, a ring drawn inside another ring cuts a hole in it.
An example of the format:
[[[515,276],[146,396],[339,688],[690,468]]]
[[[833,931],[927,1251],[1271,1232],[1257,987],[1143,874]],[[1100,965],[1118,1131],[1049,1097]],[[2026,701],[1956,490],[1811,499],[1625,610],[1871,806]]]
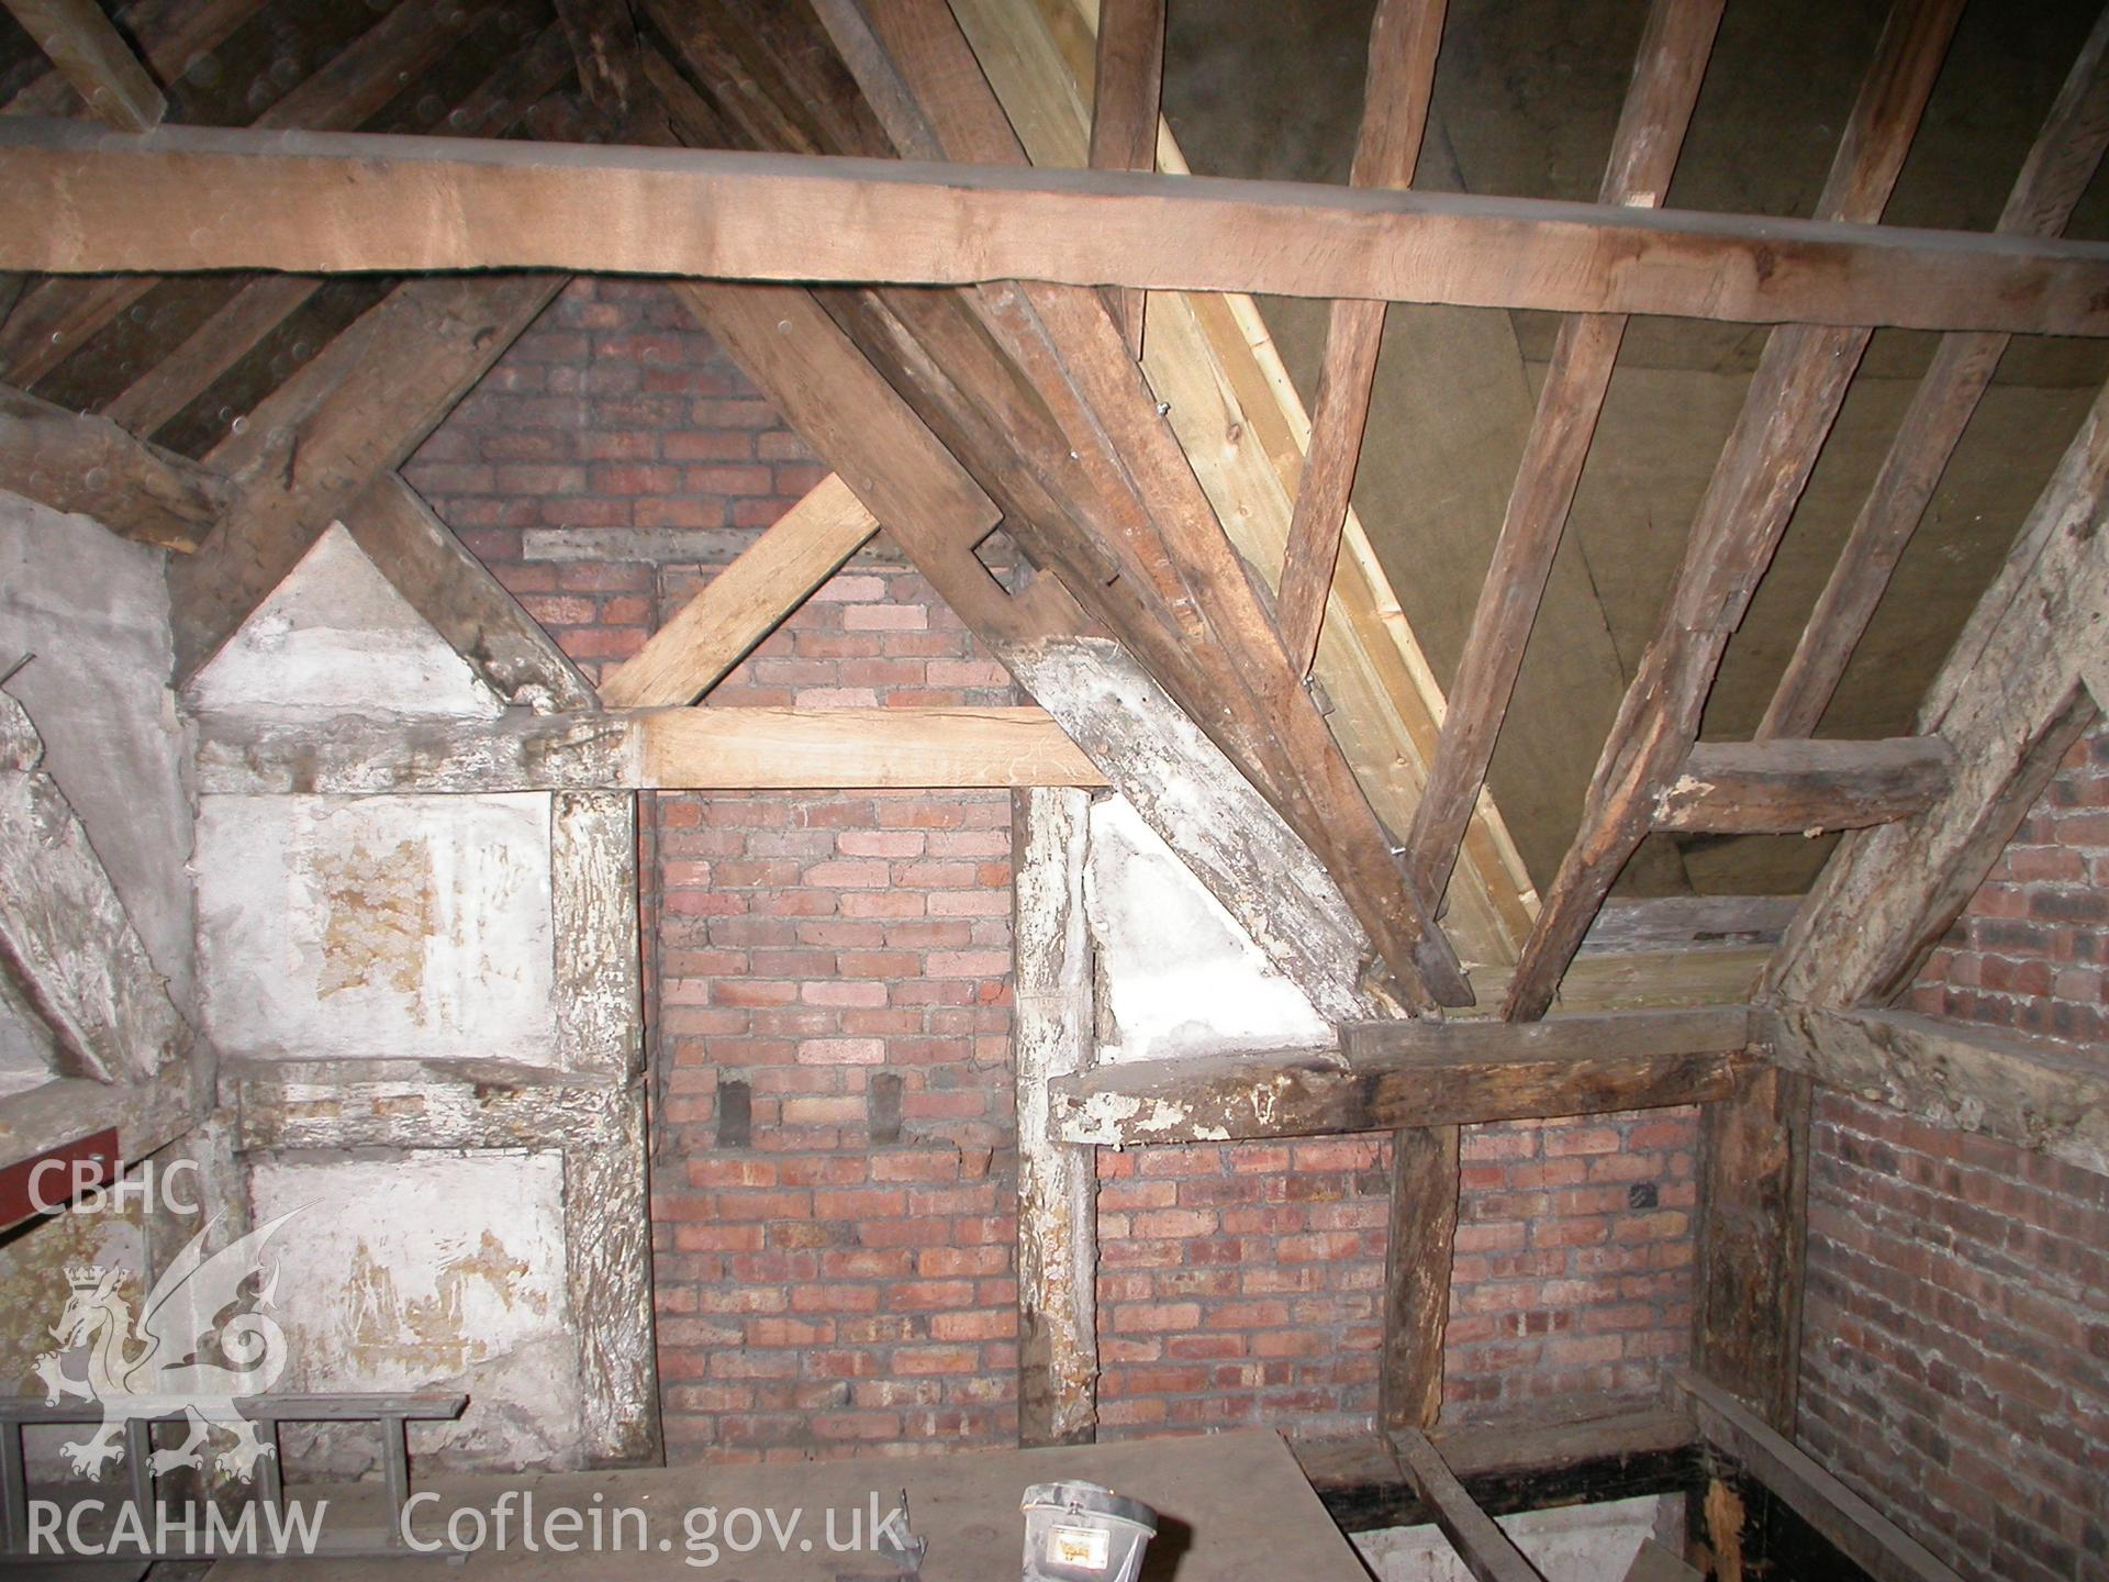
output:
[[[1763,1067],[1700,1110],[1694,1369],[1795,1430],[1810,1198],[1810,1078]]]

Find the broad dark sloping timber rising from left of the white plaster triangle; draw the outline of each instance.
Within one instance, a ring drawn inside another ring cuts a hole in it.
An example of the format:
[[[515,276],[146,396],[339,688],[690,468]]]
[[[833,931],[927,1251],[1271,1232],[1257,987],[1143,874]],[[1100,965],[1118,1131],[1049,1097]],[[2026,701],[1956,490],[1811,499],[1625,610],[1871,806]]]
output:
[[[219,652],[323,529],[439,426],[561,289],[550,274],[399,285],[205,458],[236,494],[205,548],[169,565],[179,679]]]

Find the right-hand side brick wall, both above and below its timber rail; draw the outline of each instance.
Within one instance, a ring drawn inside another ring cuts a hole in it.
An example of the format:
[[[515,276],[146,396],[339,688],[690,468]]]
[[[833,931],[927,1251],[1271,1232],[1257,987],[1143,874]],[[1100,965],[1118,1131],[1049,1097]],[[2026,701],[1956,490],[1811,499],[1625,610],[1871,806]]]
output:
[[[2109,734],[2088,734],[1909,1004],[2101,1053]],[[2109,1177],[1824,1093],[1801,1439],[1968,1578],[2109,1578]]]

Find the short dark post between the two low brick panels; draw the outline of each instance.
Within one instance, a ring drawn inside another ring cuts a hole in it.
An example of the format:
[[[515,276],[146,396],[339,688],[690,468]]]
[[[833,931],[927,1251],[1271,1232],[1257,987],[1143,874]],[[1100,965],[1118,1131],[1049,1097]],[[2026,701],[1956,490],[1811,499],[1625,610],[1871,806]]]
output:
[[[1384,1354],[1377,1422],[1434,1428],[1443,1415],[1443,1337],[1457,1245],[1457,1128],[1392,1137],[1392,1236],[1384,1253]]]

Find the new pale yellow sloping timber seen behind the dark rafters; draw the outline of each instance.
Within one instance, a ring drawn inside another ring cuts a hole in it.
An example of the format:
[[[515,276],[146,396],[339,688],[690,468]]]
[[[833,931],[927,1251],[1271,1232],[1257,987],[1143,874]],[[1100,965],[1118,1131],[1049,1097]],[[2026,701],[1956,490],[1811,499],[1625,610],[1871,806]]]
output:
[[[1088,156],[1090,23],[1067,0],[1040,11],[955,0],[968,40],[1027,154],[1044,167]],[[1187,162],[1158,122],[1158,169]],[[1223,529],[1265,582],[1280,578],[1310,420],[1251,297],[1152,293],[1143,371],[1168,405]],[[1405,829],[1434,749],[1443,692],[1354,510],[1318,643],[1329,726],[1379,816]],[[1491,797],[1481,797],[1451,888],[1445,932],[1474,966],[1506,966],[1529,932],[1535,892]]]

